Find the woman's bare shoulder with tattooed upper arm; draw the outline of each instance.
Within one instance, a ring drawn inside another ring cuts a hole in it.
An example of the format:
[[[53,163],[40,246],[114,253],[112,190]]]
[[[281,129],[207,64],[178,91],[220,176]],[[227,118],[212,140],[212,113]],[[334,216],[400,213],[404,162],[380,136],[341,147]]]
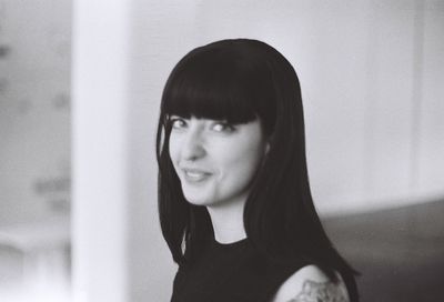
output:
[[[332,282],[316,265],[306,265],[292,274],[278,290],[272,302],[349,302],[345,284]]]

